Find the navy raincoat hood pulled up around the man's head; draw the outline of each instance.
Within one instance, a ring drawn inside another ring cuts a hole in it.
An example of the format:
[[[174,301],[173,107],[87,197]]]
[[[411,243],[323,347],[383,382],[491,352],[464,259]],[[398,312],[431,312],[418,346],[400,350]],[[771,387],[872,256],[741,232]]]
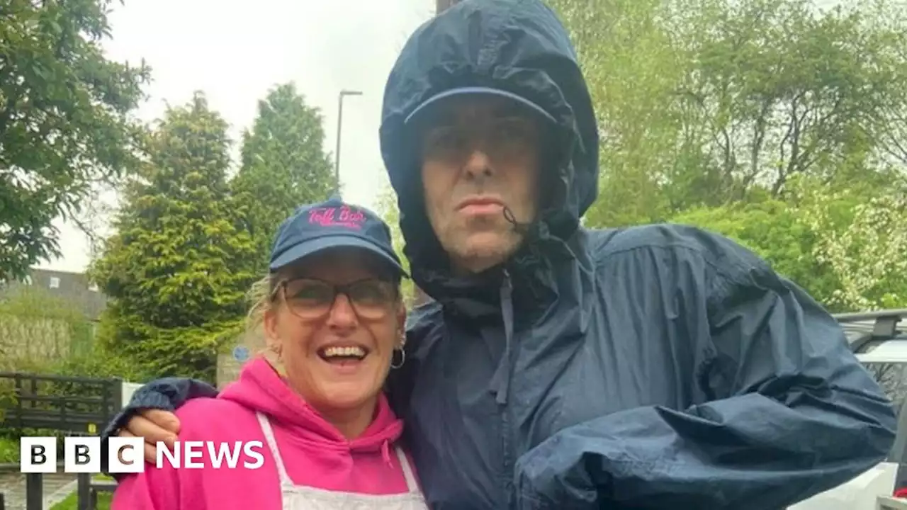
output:
[[[399,55],[385,86],[381,150],[397,195],[405,254],[413,278],[435,299],[476,287],[491,292],[488,274],[454,279],[426,217],[414,137],[405,120],[439,93],[489,87],[534,103],[557,123],[561,161],[542,169],[554,183],[526,242],[507,265],[523,277],[558,255],[575,257],[570,242],[598,193],[599,134],[576,54],[551,9],[534,0],[467,0],[422,25]],[[479,283],[483,282],[483,284]],[[494,294],[496,296],[496,294]],[[492,295],[489,296],[494,299]]]

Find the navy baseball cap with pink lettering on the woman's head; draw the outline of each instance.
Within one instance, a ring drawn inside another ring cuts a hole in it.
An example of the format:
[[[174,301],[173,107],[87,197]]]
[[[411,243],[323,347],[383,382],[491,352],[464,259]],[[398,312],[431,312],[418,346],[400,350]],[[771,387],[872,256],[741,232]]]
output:
[[[369,251],[406,276],[387,224],[374,212],[339,198],[299,207],[280,223],[270,270],[280,270],[322,250],[344,247]]]

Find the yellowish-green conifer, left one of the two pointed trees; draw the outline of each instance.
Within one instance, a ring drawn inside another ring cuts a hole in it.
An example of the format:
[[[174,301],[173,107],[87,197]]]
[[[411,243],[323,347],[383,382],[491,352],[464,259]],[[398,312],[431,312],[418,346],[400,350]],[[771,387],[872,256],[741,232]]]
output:
[[[168,109],[150,162],[93,264],[111,298],[103,341],[160,375],[213,380],[220,343],[239,332],[255,247],[229,194],[227,124],[205,96]]]

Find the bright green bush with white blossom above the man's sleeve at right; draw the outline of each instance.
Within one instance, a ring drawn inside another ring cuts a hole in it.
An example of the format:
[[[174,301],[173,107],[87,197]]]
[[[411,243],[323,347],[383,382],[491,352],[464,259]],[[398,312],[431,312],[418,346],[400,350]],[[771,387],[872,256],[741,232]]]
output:
[[[787,201],[685,211],[672,222],[737,240],[833,311],[907,307],[907,184],[829,189],[789,183]]]

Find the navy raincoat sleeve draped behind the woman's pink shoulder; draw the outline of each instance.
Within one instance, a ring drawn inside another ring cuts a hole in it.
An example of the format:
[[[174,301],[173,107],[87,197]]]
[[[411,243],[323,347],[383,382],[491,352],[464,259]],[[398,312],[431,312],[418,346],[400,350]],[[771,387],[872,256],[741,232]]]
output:
[[[144,409],[163,409],[175,411],[190,398],[217,397],[218,390],[210,384],[190,378],[161,378],[135,390],[129,403],[117,413],[111,422],[104,427],[101,433],[101,471],[119,479],[116,473],[109,473],[107,458],[107,440],[115,436],[120,428],[125,427],[129,420]]]

